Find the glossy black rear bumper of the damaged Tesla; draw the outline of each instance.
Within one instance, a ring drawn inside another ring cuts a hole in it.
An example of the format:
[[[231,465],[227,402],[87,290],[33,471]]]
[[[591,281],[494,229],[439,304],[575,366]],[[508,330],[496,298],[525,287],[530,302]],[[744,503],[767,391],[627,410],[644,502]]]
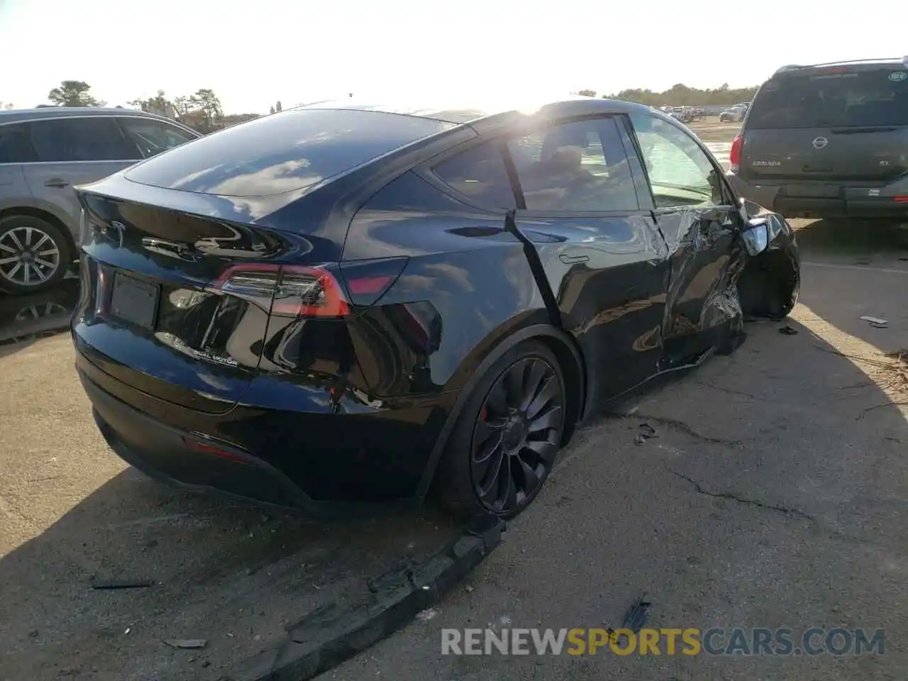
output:
[[[373,414],[251,405],[211,414],[135,390],[79,350],[76,369],[98,429],[134,468],[174,488],[298,509],[316,518],[374,515],[418,504],[432,445],[449,415],[439,405],[456,397],[441,395],[435,407]],[[425,413],[432,418],[420,419]]]

